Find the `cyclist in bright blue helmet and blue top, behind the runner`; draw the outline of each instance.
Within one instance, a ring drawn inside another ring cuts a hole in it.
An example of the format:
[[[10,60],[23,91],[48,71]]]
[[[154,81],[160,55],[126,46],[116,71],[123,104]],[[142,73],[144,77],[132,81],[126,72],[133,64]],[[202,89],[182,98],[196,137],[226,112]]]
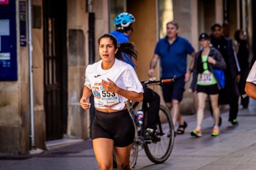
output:
[[[134,32],[133,23],[135,22],[135,17],[132,14],[122,12],[118,14],[116,18],[114,18],[114,25],[116,26],[116,30],[112,31],[111,34],[116,36],[117,42],[127,42],[129,41],[129,37]],[[135,69],[134,62],[130,55],[122,53],[124,62],[129,63]],[[155,129],[158,119],[158,112],[160,110],[160,96],[152,91],[150,88],[143,86],[143,102],[149,103],[148,108],[148,118],[147,118],[147,130],[145,132],[146,139],[152,139],[155,137]]]

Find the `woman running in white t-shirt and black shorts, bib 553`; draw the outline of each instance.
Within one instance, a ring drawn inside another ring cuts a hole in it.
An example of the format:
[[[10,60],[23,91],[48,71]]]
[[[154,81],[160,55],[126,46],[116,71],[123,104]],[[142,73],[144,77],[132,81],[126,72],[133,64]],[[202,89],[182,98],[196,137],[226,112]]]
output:
[[[134,44],[117,45],[112,34],[98,39],[101,60],[88,65],[80,105],[88,110],[94,95],[95,118],[92,124],[93,150],[100,169],[113,169],[113,150],[118,169],[131,169],[129,157],[135,129],[127,110],[127,100],[143,100],[142,84],[134,68],[122,62],[121,52],[137,57]]]

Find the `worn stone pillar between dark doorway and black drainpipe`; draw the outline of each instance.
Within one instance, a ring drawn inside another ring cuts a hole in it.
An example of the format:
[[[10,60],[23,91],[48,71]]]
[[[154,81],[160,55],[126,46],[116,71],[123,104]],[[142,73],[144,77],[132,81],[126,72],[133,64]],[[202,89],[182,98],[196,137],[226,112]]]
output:
[[[87,138],[88,111],[80,108],[86,54],[88,15],[85,1],[67,1],[68,118],[67,136]]]

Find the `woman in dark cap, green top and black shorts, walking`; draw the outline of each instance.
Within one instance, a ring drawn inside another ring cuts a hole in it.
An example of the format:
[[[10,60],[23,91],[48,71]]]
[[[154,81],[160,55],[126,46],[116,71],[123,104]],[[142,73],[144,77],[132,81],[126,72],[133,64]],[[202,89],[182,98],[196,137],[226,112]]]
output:
[[[193,79],[190,84],[190,92],[197,91],[197,127],[190,134],[195,137],[202,137],[202,122],[205,108],[205,100],[210,97],[211,108],[213,109],[213,118],[215,124],[211,136],[220,134],[219,119],[220,108],[218,107],[218,97],[220,92],[220,82],[214,74],[214,69],[225,69],[226,63],[220,52],[214,47],[210,47],[210,36],[202,33],[199,36],[202,50],[195,55],[195,65],[193,70]]]

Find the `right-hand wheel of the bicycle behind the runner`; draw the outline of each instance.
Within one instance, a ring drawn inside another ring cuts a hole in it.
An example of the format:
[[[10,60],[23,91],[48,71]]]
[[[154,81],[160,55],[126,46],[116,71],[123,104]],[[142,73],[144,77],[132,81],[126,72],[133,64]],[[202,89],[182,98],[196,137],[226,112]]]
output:
[[[156,129],[156,137],[160,138],[160,141],[151,141],[144,144],[144,150],[148,159],[156,164],[166,161],[173,150],[174,126],[169,114],[168,108],[160,105],[160,121]],[[170,134],[168,135],[169,132]]]

